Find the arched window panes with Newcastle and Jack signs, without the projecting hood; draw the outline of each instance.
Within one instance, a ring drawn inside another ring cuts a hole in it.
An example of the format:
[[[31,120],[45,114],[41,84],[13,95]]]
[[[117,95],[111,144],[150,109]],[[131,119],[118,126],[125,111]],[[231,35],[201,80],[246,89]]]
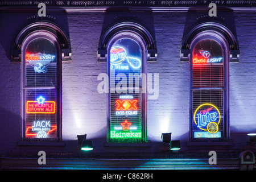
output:
[[[60,48],[48,35],[26,39],[22,47],[24,137],[57,140],[60,119]]]

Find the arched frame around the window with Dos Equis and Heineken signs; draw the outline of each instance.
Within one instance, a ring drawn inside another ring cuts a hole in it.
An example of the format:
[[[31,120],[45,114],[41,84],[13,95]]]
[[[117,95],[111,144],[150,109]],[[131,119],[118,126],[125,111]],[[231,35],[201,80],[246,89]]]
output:
[[[131,32],[128,30],[124,30],[121,32],[118,32],[115,34],[108,42],[108,47],[107,49],[107,74],[108,74],[108,96],[107,96],[107,142],[108,143],[117,143],[117,142],[110,142],[110,90],[111,90],[111,85],[110,85],[110,49],[112,48],[113,44],[117,42],[119,39],[123,38],[128,38],[128,39],[133,39],[135,42],[138,43],[139,47],[141,47],[141,53],[142,53],[142,73],[144,75],[147,75],[147,47],[146,47],[146,42],[144,39],[136,34],[135,32]],[[142,82],[143,84],[143,82]],[[143,90],[144,88],[144,90]],[[141,89],[141,106],[142,106],[142,138],[144,138],[147,142],[147,84],[144,83],[144,87],[142,85]],[[130,143],[130,142],[129,142]]]

